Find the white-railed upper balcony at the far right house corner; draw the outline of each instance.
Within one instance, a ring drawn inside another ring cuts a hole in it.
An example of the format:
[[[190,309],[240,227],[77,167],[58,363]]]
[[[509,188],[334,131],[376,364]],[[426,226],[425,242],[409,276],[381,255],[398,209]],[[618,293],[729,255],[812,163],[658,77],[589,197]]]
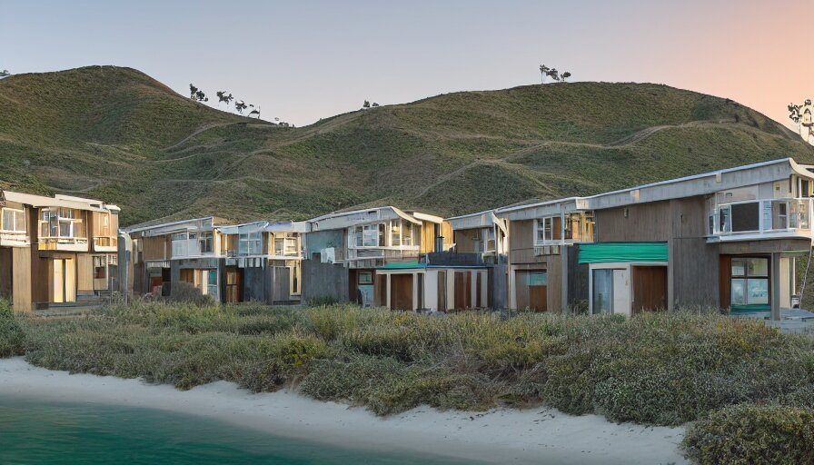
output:
[[[811,238],[811,198],[720,203],[708,215],[708,242]]]

